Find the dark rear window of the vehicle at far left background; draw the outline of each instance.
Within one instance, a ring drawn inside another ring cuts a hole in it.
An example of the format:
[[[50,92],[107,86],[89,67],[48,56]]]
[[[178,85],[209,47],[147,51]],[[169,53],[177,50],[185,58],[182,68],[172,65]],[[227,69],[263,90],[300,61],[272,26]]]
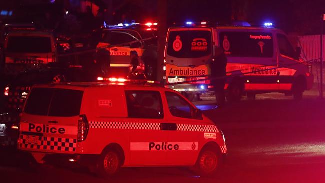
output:
[[[9,36],[7,51],[19,53],[48,53],[51,51],[50,37]]]

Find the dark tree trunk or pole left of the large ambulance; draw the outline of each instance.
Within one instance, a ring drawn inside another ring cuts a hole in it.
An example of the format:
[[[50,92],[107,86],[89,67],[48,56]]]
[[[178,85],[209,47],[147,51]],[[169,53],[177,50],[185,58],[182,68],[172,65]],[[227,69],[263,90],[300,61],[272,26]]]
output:
[[[167,3],[168,0],[158,0],[158,58],[157,58],[157,80],[162,81],[164,47],[167,34]]]

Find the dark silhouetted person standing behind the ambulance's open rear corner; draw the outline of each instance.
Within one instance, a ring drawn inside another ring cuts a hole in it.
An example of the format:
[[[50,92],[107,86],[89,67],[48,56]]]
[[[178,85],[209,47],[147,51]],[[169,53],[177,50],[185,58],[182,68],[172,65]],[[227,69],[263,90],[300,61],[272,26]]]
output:
[[[210,63],[211,68],[211,84],[214,86],[215,99],[219,107],[225,104],[224,85],[226,76],[227,57],[220,47],[215,48],[214,60]]]

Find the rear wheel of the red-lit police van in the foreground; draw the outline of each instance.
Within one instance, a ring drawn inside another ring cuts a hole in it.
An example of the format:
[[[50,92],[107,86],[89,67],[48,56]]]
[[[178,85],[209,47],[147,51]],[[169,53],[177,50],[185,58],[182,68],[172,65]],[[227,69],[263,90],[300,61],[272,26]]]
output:
[[[97,162],[97,175],[110,177],[115,175],[121,167],[121,157],[118,152],[106,149],[102,152]]]

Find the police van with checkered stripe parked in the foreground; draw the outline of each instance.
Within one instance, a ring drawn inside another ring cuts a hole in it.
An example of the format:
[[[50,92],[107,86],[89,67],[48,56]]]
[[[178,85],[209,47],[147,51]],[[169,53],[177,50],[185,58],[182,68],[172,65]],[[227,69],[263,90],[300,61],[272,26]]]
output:
[[[121,167],[217,171],[227,152],[223,133],[192,103],[153,81],[110,80],[116,82],[33,86],[18,148],[38,162],[65,159],[96,167],[102,176]]]

